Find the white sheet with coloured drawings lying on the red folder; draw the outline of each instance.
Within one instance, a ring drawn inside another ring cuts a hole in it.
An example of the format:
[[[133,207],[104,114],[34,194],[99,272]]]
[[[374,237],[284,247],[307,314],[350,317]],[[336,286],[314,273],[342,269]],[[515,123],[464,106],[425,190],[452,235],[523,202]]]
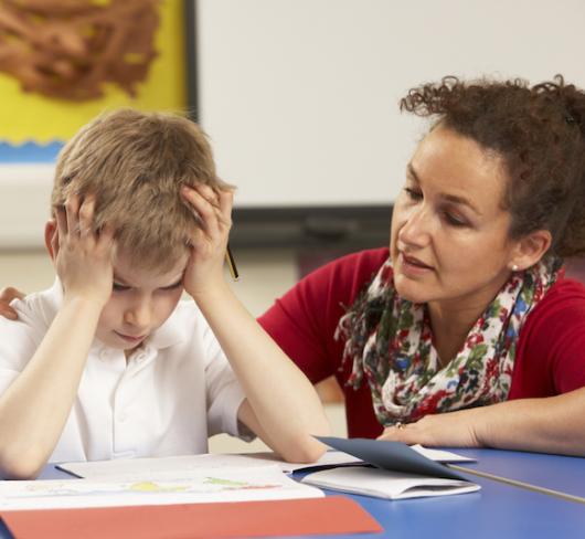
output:
[[[276,465],[159,472],[148,480],[0,482],[0,510],[318,498],[323,493],[287,477]]]

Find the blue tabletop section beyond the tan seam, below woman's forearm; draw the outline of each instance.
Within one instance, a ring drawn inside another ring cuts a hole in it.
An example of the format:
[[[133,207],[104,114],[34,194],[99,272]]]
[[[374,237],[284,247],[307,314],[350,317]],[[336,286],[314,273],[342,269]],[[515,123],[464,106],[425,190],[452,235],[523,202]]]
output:
[[[454,447],[448,451],[477,458],[476,463],[460,463],[461,466],[470,469],[585,498],[585,458],[583,457],[487,448]],[[585,531],[583,536],[585,537]]]

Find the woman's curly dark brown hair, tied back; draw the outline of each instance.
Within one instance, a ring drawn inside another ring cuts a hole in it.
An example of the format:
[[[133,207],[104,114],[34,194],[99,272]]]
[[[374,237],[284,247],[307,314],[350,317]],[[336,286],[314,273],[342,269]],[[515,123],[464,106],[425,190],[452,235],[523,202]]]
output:
[[[503,158],[510,181],[503,207],[510,235],[535,230],[553,237],[549,254],[585,254],[585,93],[562,75],[525,81],[462,82],[444,77],[412,88],[401,110],[437,117]]]

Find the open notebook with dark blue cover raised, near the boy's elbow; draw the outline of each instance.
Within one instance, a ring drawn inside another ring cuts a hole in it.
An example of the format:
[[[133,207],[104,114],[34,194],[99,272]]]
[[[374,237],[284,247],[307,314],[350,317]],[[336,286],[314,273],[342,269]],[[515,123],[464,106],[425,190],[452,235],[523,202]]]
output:
[[[465,494],[480,488],[401,442],[318,438],[330,447],[361,458],[365,464],[310,473],[301,479],[309,485],[389,499]]]

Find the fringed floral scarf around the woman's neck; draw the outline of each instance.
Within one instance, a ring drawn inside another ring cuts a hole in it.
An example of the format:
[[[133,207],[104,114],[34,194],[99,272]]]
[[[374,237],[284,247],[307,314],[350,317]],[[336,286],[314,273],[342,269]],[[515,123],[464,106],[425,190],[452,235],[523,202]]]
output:
[[[336,331],[336,338],[345,339],[343,363],[353,364],[348,384],[357,389],[365,376],[384,426],[506,400],[520,329],[560,267],[561,261],[551,257],[513,273],[461,350],[442,368],[426,305],[396,294],[389,258]]]

